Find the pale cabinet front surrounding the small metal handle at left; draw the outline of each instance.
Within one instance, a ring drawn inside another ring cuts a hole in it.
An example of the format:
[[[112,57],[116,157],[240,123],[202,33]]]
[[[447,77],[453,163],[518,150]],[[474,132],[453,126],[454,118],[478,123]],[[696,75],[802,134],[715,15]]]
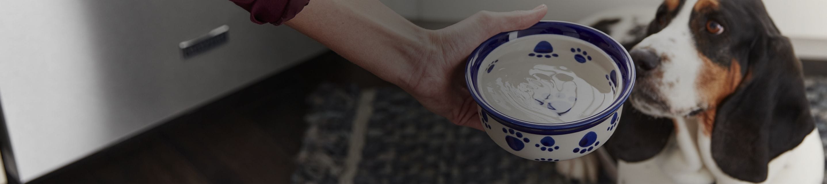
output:
[[[230,26],[182,59],[180,41]],[[0,101],[26,182],[323,51],[227,0],[0,1]]]

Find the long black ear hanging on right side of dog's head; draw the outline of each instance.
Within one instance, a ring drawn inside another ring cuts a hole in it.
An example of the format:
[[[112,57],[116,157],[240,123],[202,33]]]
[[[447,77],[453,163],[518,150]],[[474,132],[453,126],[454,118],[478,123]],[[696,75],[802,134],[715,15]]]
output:
[[[747,74],[717,107],[710,149],[730,177],[763,182],[770,160],[801,144],[815,124],[790,41],[772,31],[750,47]]]

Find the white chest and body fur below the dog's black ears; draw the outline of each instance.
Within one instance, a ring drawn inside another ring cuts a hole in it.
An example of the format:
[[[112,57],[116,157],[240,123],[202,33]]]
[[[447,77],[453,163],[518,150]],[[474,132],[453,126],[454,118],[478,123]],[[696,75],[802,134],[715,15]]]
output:
[[[676,134],[655,157],[638,163],[619,161],[618,183],[751,183],[720,170],[710,152],[710,137],[698,129],[699,120],[687,118],[676,124]],[[681,134],[690,132],[693,139],[680,138],[689,137]],[[697,153],[700,159],[695,158]],[[813,130],[795,149],[770,161],[767,180],[762,183],[821,183],[824,163],[819,132]],[[698,164],[701,167],[696,167]]]

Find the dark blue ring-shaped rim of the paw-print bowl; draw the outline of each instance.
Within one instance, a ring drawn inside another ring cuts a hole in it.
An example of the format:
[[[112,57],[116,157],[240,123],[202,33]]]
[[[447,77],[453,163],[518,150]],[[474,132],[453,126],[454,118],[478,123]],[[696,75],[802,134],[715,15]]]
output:
[[[600,50],[603,50],[606,54],[609,54],[609,58],[617,64],[619,68],[619,77],[620,79],[623,79],[624,83],[623,89],[620,90],[619,97],[612,102],[609,108],[606,108],[604,111],[600,111],[600,113],[594,116],[590,116],[582,120],[561,123],[562,125],[539,124],[505,116],[500,113],[500,111],[495,111],[486,101],[482,100],[480,94],[477,92],[476,76],[477,72],[480,70],[480,64],[482,64],[485,57],[488,56],[491,51],[495,50],[500,45],[509,42],[510,40],[528,35],[541,34],[566,35],[579,40],[584,40],[592,45],[595,45],[597,48],[600,48]],[[626,61],[625,64],[624,61]],[[534,26],[528,27],[524,30],[509,31],[494,35],[480,44],[480,46],[478,46],[474,52],[468,56],[465,71],[466,84],[469,92],[471,92],[471,97],[474,98],[474,101],[476,101],[476,103],[480,105],[485,112],[509,128],[530,134],[571,134],[594,127],[595,125],[600,124],[600,122],[603,122],[603,120],[606,120],[609,115],[616,112],[620,106],[623,106],[624,102],[629,98],[629,93],[631,93],[635,82],[634,63],[632,58],[629,56],[629,52],[626,51],[623,45],[620,45],[617,40],[612,39],[609,35],[606,35],[602,31],[598,31],[590,26],[583,26],[581,24],[567,21],[540,21]]]

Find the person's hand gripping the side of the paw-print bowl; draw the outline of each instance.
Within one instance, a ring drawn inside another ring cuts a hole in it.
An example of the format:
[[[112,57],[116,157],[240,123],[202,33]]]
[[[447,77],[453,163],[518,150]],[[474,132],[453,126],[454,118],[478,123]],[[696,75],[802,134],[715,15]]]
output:
[[[483,11],[444,29],[428,31],[424,43],[428,49],[414,59],[410,77],[399,86],[437,115],[482,130],[476,101],[465,82],[468,55],[491,36],[533,26],[546,12],[544,4],[527,11]]]

